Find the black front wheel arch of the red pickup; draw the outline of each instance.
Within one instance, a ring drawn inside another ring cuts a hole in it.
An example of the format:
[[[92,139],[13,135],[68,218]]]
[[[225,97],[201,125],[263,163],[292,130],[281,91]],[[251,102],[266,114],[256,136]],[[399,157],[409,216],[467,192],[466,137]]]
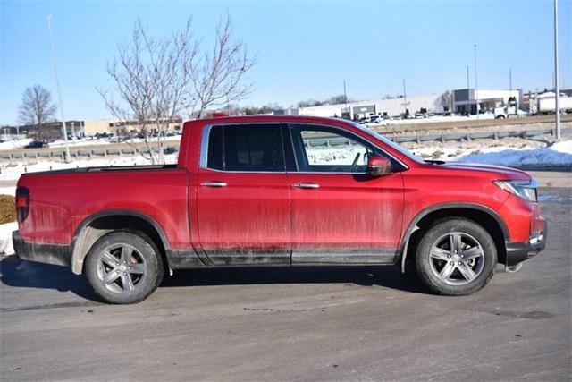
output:
[[[482,225],[483,228],[491,234],[494,240],[498,261],[503,262],[506,258],[505,242],[510,240],[509,228],[492,208],[488,208],[482,204],[469,202],[451,202],[440,203],[427,207],[419,212],[409,223],[407,230],[403,234],[398,259],[401,263],[401,272],[405,273],[405,261],[410,250],[409,243],[414,233],[423,232],[433,222],[446,217],[463,217]],[[418,228],[416,230],[416,228]],[[414,238],[415,239],[415,238]]]

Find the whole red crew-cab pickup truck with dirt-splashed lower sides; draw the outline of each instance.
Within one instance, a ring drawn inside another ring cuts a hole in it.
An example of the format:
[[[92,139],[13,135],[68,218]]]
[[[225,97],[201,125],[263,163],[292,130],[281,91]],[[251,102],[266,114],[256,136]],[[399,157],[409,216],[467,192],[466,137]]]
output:
[[[17,255],[85,272],[114,303],[142,301],[167,268],[406,262],[464,295],[546,240],[528,174],[426,162],[341,119],[192,121],[177,165],[24,174],[16,194]]]

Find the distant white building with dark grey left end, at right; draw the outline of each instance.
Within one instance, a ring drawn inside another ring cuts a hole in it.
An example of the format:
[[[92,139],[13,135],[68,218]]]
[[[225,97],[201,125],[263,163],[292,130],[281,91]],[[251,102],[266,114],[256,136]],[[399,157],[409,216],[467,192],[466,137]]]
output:
[[[453,111],[458,114],[476,114],[477,103],[479,110],[494,110],[495,107],[506,106],[509,98],[514,97],[520,104],[522,90],[453,90]]]

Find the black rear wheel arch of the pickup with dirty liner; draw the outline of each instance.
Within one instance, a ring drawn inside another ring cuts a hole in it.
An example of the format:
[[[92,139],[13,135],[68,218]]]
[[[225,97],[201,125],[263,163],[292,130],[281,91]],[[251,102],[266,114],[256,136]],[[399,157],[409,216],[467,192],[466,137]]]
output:
[[[71,271],[80,275],[88,251],[97,240],[117,229],[131,229],[147,234],[155,242],[166,263],[166,251],[170,249],[164,230],[155,219],[130,209],[108,209],[83,219],[71,241]]]

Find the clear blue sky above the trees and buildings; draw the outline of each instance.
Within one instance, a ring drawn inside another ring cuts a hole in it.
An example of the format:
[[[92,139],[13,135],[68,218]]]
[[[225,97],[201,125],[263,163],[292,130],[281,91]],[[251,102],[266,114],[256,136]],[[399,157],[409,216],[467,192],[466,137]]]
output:
[[[551,88],[552,1],[4,1],[0,0],[0,124],[16,122],[23,90],[52,90],[46,16],[53,15],[66,119],[109,115],[95,87],[107,82],[116,55],[139,16],[154,35],[181,28],[193,16],[196,35],[212,44],[228,10],[235,36],[257,54],[248,76],[256,89],[244,105],[290,106],[329,98],[348,84],[350,98],[479,89]],[[559,1],[560,81],[572,87],[572,0]]]

